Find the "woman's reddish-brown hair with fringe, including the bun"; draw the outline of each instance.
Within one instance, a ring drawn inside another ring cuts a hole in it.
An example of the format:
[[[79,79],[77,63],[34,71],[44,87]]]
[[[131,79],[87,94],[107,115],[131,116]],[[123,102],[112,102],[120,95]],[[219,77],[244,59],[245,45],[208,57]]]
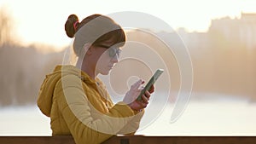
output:
[[[101,44],[111,40],[112,45],[119,44],[119,47],[125,44],[125,32],[121,26],[115,23],[111,18],[102,14],[92,14],[81,22],[76,14],[68,16],[65,23],[67,37],[74,37],[73,50],[76,55],[84,55],[84,44]]]

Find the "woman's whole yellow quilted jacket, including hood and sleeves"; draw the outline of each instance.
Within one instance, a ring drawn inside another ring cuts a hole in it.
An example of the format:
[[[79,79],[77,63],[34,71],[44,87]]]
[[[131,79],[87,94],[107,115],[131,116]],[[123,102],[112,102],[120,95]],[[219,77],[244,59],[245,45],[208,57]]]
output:
[[[46,76],[38,107],[50,117],[53,135],[73,135],[77,144],[102,143],[116,134],[134,133],[143,116],[123,102],[113,105],[101,80],[75,66],[56,66]]]

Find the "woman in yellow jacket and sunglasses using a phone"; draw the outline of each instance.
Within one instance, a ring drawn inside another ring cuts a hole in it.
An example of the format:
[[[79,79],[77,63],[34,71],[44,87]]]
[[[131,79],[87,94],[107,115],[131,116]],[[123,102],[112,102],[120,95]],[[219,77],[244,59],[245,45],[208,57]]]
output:
[[[53,135],[73,135],[74,141],[102,143],[116,134],[133,134],[138,129],[154,86],[143,95],[143,80],[131,85],[123,101],[113,105],[98,74],[107,75],[119,60],[125,32],[112,19],[93,14],[79,22],[75,14],[65,24],[74,37],[76,66],[56,66],[44,79],[38,107],[48,117]]]

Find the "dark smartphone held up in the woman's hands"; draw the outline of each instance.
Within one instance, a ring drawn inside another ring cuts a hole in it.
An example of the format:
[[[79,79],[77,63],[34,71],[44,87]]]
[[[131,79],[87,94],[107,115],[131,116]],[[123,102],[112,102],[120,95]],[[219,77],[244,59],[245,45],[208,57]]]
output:
[[[141,94],[137,96],[137,101],[142,101],[143,94],[150,89],[150,87],[156,82],[156,80],[160,77],[160,75],[164,72],[163,69],[157,69],[156,72],[154,72],[154,75],[150,78],[148,81],[148,84],[144,87]]]

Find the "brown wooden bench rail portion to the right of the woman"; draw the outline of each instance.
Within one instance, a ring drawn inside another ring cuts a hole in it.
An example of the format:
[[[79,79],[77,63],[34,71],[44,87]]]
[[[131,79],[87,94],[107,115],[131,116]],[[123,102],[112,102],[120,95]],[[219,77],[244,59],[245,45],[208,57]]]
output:
[[[256,144],[253,136],[115,136],[103,144]]]

